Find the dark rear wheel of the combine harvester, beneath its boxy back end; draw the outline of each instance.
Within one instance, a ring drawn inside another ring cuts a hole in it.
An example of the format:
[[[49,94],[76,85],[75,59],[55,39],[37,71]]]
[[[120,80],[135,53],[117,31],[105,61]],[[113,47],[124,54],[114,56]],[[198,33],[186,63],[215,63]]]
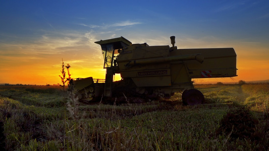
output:
[[[198,105],[203,104],[204,96],[197,89],[185,90],[182,93],[182,102],[184,105]]]

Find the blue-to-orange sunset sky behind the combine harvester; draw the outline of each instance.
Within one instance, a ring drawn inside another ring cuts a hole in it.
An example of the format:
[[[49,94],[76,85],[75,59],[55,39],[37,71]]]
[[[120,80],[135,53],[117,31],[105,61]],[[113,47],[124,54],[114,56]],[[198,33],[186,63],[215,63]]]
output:
[[[178,48],[233,47],[238,77],[269,79],[269,1],[0,0],[0,84],[57,84],[62,58],[72,78],[104,79],[95,41]],[[206,80],[198,80],[205,82]]]

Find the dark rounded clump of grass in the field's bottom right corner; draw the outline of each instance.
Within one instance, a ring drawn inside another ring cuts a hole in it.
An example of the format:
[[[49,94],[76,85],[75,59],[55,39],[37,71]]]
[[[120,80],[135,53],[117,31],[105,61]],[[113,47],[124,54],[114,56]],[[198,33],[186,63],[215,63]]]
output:
[[[216,137],[225,135],[226,146],[231,150],[241,149],[267,150],[269,148],[269,123],[259,119],[248,107],[232,108],[220,121]],[[236,144],[236,145],[233,145]]]

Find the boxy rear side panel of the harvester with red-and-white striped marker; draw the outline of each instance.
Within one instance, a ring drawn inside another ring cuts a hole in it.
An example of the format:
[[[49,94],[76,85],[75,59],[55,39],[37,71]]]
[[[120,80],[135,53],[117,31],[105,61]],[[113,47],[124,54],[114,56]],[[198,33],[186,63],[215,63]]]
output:
[[[235,77],[236,53],[233,48],[178,49],[178,54],[201,53],[203,63],[184,61],[190,78]]]

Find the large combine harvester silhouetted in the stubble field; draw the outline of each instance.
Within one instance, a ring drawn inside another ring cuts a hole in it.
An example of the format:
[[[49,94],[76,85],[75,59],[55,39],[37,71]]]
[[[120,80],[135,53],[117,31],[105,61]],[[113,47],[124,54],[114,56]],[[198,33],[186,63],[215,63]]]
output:
[[[237,76],[233,48],[177,49],[175,36],[170,38],[172,47],[132,44],[124,37],[96,41],[102,49],[105,80],[76,80],[80,99],[169,97],[184,91],[184,104],[202,104],[204,96],[194,89],[191,79]],[[121,81],[113,81],[115,73],[121,74]]]

